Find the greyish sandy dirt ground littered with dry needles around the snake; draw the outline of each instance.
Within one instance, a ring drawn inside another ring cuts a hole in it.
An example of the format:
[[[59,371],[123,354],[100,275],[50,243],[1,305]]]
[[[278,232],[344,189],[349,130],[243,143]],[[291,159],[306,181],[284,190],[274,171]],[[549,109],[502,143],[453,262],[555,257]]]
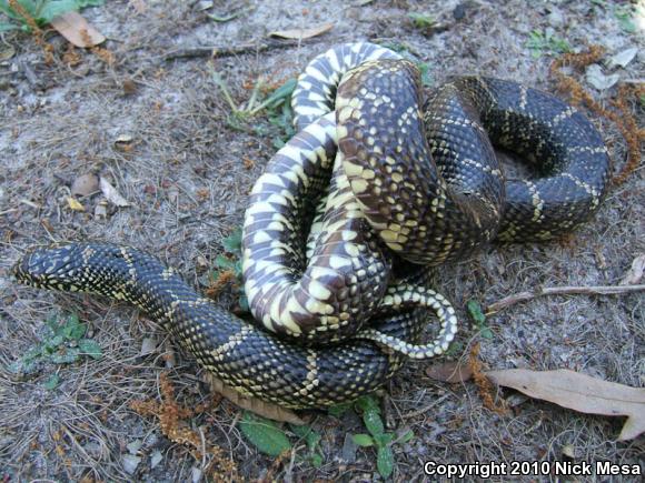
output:
[[[108,38],[103,47],[113,56],[112,62],[106,62],[105,52],[77,51],[78,62],[69,66],[63,60],[67,44],[54,32],[46,34],[53,46],[50,64],[28,34],[4,34],[0,42],[2,51],[14,49],[0,63],[2,481],[205,477],[210,460],[196,460],[189,446],[162,434],[157,419],[142,416],[130,405],[137,400],[160,400],[162,371],[168,371],[181,403],[194,407],[210,401],[190,358],[172,352],[166,334],[128,305],[19,286],[9,279],[8,269],[37,242],[101,239],[158,253],[204,286],[205,274],[222,251],[221,239],[241,224],[247,193],[279,135],[262,113],[241,125],[227,122],[230,108],[209,66],[221,74],[235,102],[241,103],[259,77],[279,84],[325,49],[370,39],[403,44],[427,63],[435,84],[449,76],[476,72],[553,91],[548,66],[554,57],[548,51],[532,56],[527,48],[530,32],[538,30],[566,39],[574,50],[602,44],[607,57],[639,47],[636,59],[617,73],[622,80],[641,81],[644,74],[645,20],[635,32],[626,31],[615,12],[626,2],[554,0],[527,7],[529,2],[519,0],[267,0],[235,7],[215,1],[210,9],[200,10],[207,3],[119,0],[85,10]],[[146,9],[140,11],[137,4]],[[207,17],[238,11],[239,17],[225,22]],[[410,12],[431,14],[438,28],[418,28]],[[260,44],[271,31],[325,22],[334,28],[301,46],[274,44],[265,51],[251,49],[216,59],[176,56],[198,46]],[[584,82],[583,76],[574,76]],[[601,103],[615,93],[615,88],[598,91],[584,85]],[[643,105],[632,109],[642,122]],[[594,117],[594,121],[618,169],[626,158],[622,137],[606,120]],[[85,212],[71,210],[67,201],[71,183],[90,172],[109,180],[131,205],[108,203],[106,217],[96,215],[102,197],[95,193],[79,199]],[[644,178],[638,168],[567,242],[493,246],[443,268],[437,289],[454,303],[463,322],[458,350],[444,360],[466,356],[479,341],[487,369],[566,368],[644,386],[642,292],[553,296],[517,304],[487,321],[492,338],[480,336],[465,310],[470,299],[488,304],[537,286],[618,284],[633,259],[645,253]],[[44,363],[32,374],[14,374],[10,365],[42,339],[51,312],[77,313],[102,356],[72,364]],[[433,363],[408,363],[388,391],[391,431],[415,433],[411,441],[394,446],[395,480],[423,480],[427,461],[556,461],[568,454],[573,461],[643,464],[643,437],[616,442],[622,417],[582,415],[509,390],[500,395],[509,399],[512,411],[500,415],[484,406],[473,382],[448,384],[428,378],[425,371]],[[48,390],[44,384],[53,373],[59,383]],[[322,436],[318,469],[297,457],[306,451],[301,442],[274,464],[240,433],[240,417],[241,411],[222,400],[186,421],[205,444],[219,446],[220,457],[232,460],[244,479],[379,477],[371,449],[343,451],[346,435],[365,432],[351,411],[340,419],[326,412],[308,414]],[[347,461],[348,453],[354,461]]]

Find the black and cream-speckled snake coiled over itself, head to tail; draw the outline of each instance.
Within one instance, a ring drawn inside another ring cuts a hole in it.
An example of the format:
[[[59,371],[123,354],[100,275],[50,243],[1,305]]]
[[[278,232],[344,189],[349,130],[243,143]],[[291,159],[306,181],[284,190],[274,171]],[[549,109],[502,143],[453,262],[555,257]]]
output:
[[[378,44],[312,59],[291,108],[297,134],[267,163],[245,213],[254,321],[119,244],[36,245],[14,279],[132,303],[240,394],[325,407],[381,388],[407,359],[446,352],[457,320],[430,288],[431,268],[496,241],[558,238],[607,192],[607,149],[574,107],[480,76],[430,90],[413,61]],[[505,174],[495,148],[535,175]],[[436,335],[421,343],[431,313]]]

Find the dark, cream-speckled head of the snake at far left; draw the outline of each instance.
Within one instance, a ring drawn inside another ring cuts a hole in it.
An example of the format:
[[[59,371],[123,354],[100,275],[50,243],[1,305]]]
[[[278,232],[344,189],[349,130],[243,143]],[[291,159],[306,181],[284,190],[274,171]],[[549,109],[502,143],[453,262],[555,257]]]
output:
[[[36,245],[18,259],[11,274],[24,285],[69,290],[69,286],[63,285],[71,274],[72,261],[78,260],[78,255],[69,243]]]

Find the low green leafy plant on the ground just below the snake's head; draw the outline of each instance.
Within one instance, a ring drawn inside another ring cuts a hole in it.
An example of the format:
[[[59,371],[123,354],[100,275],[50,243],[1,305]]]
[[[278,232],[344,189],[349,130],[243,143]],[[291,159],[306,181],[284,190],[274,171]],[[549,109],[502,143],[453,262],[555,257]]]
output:
[[[79,322],[77,314],[70,314],[67,319],[59,319],[54,314],[46,321],[46,332],[40,342],[11,363],[9,370],[30,374],[36,372],[39,362],[71,364],[83,355],[100,359],[100,345],[85,338],[86,332],[87,325]],[[58,375],[53,375],[46,382],[46,388],[54,389],[58,383]]]

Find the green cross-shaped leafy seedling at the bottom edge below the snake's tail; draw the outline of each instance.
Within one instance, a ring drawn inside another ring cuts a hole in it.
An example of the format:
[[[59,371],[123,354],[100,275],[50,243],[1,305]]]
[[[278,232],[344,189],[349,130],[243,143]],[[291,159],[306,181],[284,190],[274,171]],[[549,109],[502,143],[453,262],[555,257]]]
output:
[[[376,449],[376,467],[384,479],[391,475],[395,466],[391,446],[397,443],[407,443],[415,434],[411,430],[405,431],[398,437],[395,433],[386,433],[380,415],[380,407],[371,395],[365,395],[356,401],[356,407],[363,412],[363,422],[369,434],[354,434],[351,439],[358,446]]]

